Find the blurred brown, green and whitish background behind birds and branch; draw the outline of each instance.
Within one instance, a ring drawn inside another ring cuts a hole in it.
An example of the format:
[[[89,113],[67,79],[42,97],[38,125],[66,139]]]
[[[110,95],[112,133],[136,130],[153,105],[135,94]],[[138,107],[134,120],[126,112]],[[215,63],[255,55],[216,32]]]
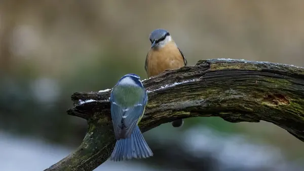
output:
[[[304,65],[304,1],[0,1],[0,170],[43,170],[75,148],[70,95],[146,78],[156,28],[188,64],[233,58]],[[266,122],[190,118],[144,133],[154,157],[95,170],[303,170],[304,143]]]

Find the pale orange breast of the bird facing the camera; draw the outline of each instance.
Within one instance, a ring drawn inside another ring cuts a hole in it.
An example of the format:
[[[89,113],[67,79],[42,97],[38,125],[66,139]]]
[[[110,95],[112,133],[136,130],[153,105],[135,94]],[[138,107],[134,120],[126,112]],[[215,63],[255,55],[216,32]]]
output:
[[[146,64],[148,78],[159,75],[167,69],[178,69],[185,65],[181,53],[173,42],[161,49],[150,49]]]

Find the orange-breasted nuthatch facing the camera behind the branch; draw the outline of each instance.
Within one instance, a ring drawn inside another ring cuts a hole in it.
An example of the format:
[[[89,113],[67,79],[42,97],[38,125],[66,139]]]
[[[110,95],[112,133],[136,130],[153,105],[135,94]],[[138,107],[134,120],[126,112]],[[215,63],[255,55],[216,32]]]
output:
[[[148,78],[159,75],[165,70],[178,69],[187,64],[186,58],[167,30],[156,29],[150,33],[149,39],[151,48],[148,51],[144,65]],[[175,120],[172,125],[180,127],[183,125],[183,120]]]

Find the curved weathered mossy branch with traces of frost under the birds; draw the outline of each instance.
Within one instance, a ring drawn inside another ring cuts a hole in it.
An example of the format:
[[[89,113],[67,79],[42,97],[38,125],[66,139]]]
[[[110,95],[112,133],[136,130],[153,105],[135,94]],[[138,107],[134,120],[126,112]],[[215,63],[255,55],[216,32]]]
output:
[[[178,118],[217,116],[229,122],[274,123],[304,141],[304,68],[232,59],[194,66],[143,81],[148,91],[142,132]],[[108,159],[115,139],[110,90],[72,95],[69,115],[88,120],[81,146],[46,170],[93,170]],[[82,102],[89,100],[90,102]]]

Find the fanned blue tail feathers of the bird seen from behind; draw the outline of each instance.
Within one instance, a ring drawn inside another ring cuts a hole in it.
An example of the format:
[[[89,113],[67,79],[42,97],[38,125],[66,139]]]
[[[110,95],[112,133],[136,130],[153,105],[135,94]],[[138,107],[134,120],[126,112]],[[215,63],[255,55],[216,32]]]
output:
[[[120,139],[116,142],[110,160],[122,161],[132,158],[148,158],[153,156],[153,152],[143,139],[139,127],[136,125],[131,137]]]

